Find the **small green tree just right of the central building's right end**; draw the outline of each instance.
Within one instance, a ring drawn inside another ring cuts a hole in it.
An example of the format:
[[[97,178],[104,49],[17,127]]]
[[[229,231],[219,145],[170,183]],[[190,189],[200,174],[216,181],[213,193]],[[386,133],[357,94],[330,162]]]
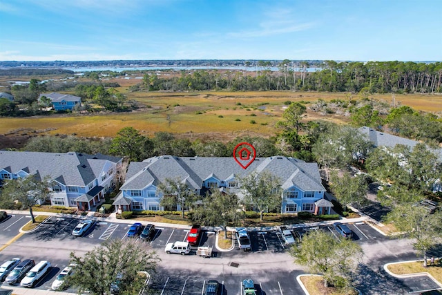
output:
[[[339,176],[333,172],[330,175],[330,188],[338,202],[344,206],[347,204],[364,204],[367,202],[367,180],[365,175],[351,177],[347,173]]]

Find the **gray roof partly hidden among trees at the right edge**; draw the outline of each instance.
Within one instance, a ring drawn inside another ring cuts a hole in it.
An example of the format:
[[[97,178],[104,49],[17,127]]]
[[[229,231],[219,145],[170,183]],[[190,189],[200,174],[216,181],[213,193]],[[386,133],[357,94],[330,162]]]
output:
[[[387,147],[394,147],[396,144],[401,144],[404,146],[409,146],[410,148],[414,148],[416,144],[419,144],[416,140],[409,140],[404,137],[399,137],[396,135],[392,135],[390,133],[380,132],[376,131],[369,127],[361,127],[358,129],[358,131],[367,137],[367,139],[372,142],[374,146],[387,146]],[[442,149],[431,149],[433,153],[438,156],[439,160],[442,162]]]

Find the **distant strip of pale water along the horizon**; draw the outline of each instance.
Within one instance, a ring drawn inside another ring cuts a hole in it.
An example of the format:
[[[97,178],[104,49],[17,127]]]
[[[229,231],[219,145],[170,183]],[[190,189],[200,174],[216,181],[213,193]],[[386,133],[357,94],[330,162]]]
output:
[[[84,73],[93,71],[104,71],[111,70],[113,72],[124,72],[126,70],[246,70],[248,72],[255,72],[256,70],[263,70],[264,68],[256,68],[254,66],[129,66],[129,67],[115,67],[115,66],[97,66],[97,67],[67,67],[64,70],[73,70],[74,72]],[[267,69],[267,68],[266,68]],[[270,67],[269,70],[276,72],[279,70],[278,67]],[[298,69],[296,69],[298,70]],[[307,68],[308,72],[316,72],[316,70],[321,70],[320,68]]]

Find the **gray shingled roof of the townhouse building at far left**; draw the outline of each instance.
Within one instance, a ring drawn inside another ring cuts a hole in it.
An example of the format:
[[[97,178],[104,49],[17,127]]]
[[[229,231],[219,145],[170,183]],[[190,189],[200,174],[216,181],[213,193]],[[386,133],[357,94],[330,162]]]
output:
[[[105,162],[99,159],[99,155],[74,152],[0,151],[0,170],[5,169],[11,173],[23,170],[30,174],[38,172],[41,178],[49,175],[61,184],[81,187],[99,176]]]

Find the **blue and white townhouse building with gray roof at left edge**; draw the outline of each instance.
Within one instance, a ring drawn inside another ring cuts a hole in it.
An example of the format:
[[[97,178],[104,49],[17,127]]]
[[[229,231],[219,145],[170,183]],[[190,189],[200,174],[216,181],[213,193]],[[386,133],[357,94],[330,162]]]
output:
[[[37,175],[50,178],[52,205],[88,211],[115,187],[122,158],[97,153],[0,151],[0,181]]]

